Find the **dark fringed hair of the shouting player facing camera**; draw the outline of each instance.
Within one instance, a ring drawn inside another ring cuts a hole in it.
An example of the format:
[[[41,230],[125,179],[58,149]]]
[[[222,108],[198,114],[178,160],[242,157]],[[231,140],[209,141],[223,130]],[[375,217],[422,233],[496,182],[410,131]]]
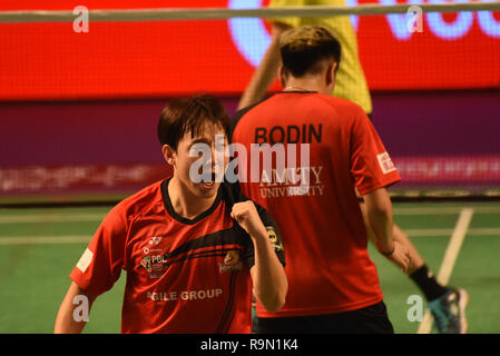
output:
[[[229,116],[224,106],[210,95],[198,95],[170,101],[158,121],[158,139],[175,150],[184,135],[198,136],[206,122],[220,126],[225,135],[229,132]]]

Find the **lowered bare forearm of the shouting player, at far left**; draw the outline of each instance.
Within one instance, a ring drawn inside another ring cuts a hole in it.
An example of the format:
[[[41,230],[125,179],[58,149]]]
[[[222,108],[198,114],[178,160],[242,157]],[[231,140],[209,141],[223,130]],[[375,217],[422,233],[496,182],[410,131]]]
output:
[[[81,298],[77,298],[79,296],[82,296],[82,298],[87,298],[87,301],[84,301],[84,299]],[[61,303],[61,306],[59,307],[53,333],[80,334],[84,327],[87,325],[84,316],[90,313],[92,303],[94,298],[86,294],[82,289],[80,289],[78,285],[72,283],[65,296],[65,299]],[[77,308],[81,310],[76,310]]]

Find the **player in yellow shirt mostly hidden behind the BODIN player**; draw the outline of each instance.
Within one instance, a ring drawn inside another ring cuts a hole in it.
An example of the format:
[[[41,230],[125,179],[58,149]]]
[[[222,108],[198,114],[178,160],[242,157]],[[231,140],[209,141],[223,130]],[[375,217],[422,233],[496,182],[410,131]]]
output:
[[[344,0],[271,0],[269,7],[297,7],[297,6],[345,6]],[[363,68],[359,59],[356,33],[346,16],[329,18],[276,18],[272,19],[272,41],[264,58],[255,70],[247,88],[245,89],[238,108],[245,108],[261,100],[268,87],[276,78],[280,65],[280,36],[291,28],[298,26],[326,26],[334,32],[342,47],[342,62],[336,73],[336,85],[332,95],[353,101],[361,106],[371,118],[372,100],[364,77]],[[366,221],[364,206],[361,204],[365,217],[366,230],[371,240],[374,240],[370,224]],[[393,225],[393,238],[405,245],[410,251],[412,265],[405,271],[411,280],[419,287],[428,300],[438,330],[440,333],[465,333],[465,306],[468,294],[463,288],[452,288],[441,285],[419,250],[412,244],[408,235],[396,225]]]

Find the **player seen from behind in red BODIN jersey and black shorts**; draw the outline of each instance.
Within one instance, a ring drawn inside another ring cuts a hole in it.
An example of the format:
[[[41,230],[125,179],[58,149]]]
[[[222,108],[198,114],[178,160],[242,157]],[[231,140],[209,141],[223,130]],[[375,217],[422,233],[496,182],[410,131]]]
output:
[[[378,250],[405,270],[410,257],[392,238],[385,189],[400,176],[363,109],[331,96],[341,60],[332,33],[324,27],[288,30],[281,52],[284,91],[238,111],[232,121],[232,141],[246,149],[283,144],[288,152],[295,144],[308,145],[310,151],[307,166],[278,169],[276,159],[266,171],[265,165],[252,165],[247,169],[258,169],[261,181],[239,184],[243,194],[273,214],[287,259],[286,303],[277,313],[257,303],[257,332],[393,333],[355,188]],[[305,186],[292,178],[305,174]]]

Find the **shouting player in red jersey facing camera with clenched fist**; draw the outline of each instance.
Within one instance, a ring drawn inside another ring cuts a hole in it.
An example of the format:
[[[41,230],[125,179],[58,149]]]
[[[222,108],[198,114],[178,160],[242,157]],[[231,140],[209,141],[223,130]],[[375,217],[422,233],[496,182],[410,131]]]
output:
[[[214,138],[224,135],[227,145],[228,127],[224,107],[210,96],[164,109],[158,137],[174,175],[106,216],[70,274],[55,333],[81,332],[85,320],[75,314],[82,304],[75,300],[84,296],[91,305],[121,270],[122,333],[249,333],[252,288],[265,309],[280,309],[287,281],[276,226],[266,210],[215,179]],[[199,182],[190,169],[199,162],[192,154],[196,144],[210,152]]]

